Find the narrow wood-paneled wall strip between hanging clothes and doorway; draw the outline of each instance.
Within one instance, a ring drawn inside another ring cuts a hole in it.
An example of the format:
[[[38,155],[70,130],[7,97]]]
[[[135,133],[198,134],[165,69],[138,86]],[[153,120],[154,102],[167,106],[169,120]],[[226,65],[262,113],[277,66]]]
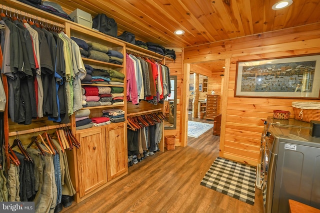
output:
[[[173,48],[170,48],[173,49]],[[180,146],[180,117],[181,117],[181,94],[182,94],[182,56],[183,50],[181,48],[175,48],[175,61],[166,61],[166,65],[170,68],[170,75],[175,75],[177,84],[176,84],[176,128],[164,130],[164,136],[174,135],[175,136],[175,146]]]

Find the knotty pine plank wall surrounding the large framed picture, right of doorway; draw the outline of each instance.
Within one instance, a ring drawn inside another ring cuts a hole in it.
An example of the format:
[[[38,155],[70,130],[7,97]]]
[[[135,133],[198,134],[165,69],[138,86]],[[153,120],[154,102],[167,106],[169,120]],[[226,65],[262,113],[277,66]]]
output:
[[[290,117],[293,118],[291,102],[302,101],[301,99],[234,97],[236,62],[319,52],[320,23],[184,49],[185,66],[188,63],[217,59],[226,61],[224,85],[221,85],[221,88],[226,90],[221,96],[222,132],[219,147],[221,157],[256,165],[259,161],[263,120],[272,116],[273,110],[277,109],[289,110]],[[209,84],[213,85],[215,81],[209,81]]]

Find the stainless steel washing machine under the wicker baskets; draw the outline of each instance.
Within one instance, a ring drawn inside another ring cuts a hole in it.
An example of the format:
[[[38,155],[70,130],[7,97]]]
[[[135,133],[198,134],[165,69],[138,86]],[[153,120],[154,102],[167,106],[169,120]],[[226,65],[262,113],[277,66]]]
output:
[[[261,190],[264,213],[288,213],[292,199],[320,209],[320,138],[310,124],[272,117],[261,135]]]

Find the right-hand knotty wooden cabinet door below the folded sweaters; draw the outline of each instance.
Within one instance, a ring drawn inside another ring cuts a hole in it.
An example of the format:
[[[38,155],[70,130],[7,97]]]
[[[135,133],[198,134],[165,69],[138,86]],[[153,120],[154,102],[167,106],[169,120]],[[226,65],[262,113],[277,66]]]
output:
[[[105,128],[106,135],[106,158],[107,158],[107,180],[110,181],[117,176],[127,173],[128,156],[126,144],[125,123],[109,124]]]

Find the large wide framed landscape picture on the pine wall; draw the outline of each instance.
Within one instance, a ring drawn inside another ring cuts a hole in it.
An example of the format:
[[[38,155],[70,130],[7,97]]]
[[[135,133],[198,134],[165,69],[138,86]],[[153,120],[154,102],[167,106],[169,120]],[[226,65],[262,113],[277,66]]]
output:
[[[234,97],[320,98],[320,55],[237,61]]]

